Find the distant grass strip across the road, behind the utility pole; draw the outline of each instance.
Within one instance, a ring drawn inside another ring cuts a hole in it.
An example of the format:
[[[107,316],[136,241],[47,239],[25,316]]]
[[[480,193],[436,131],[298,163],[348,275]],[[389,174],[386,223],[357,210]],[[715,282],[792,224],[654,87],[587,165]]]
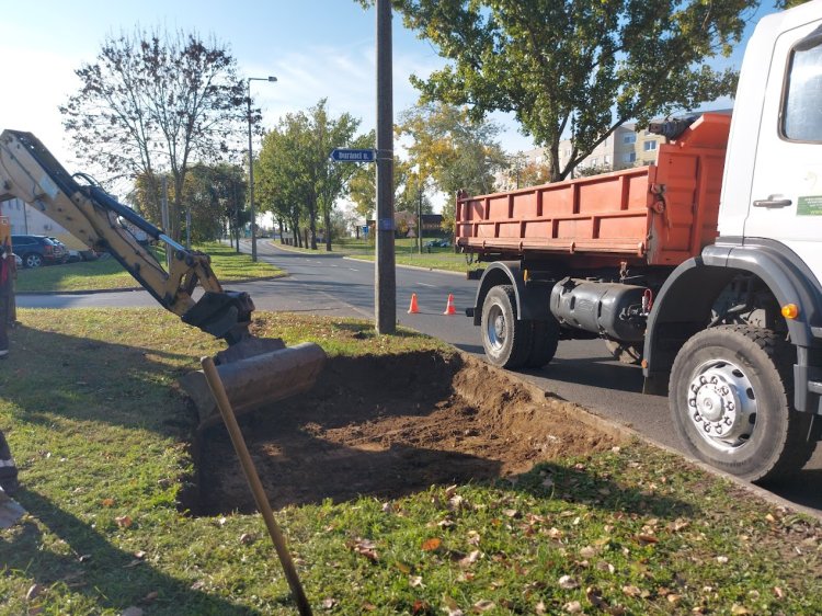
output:
[[[271,240],[276,246],[281,246],[278,240]],[[423,239],[423,243],[429,241]],[[324,252],[324,244],[320,246],[318,251],[308,248],[287,247],[288,250],[300,252],[316,253]],[[331,244],[331,250],[338,254],[344,254],[353,259],[364,261],[374,261],[374,241],[367,239],[345,238]],[[454,252],[454,248],[423,248],[420,253],[416,247],[416,240],[411,238],[398,238],[395,240],[395,261],[398,265],[412,265],[415,267],[425,267],[429,270],[445,270],[448,272],[467,272],[483,267],[481,263],[468,263],[465,254]]]

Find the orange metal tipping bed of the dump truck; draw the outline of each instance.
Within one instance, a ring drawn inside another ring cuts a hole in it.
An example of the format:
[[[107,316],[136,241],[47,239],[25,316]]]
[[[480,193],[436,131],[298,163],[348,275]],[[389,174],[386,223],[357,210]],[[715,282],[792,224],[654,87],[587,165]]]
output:
[[[456,207],[466,252],[677,265],[717,237],[731,118],[704,114],[657,163],[469,197]]]

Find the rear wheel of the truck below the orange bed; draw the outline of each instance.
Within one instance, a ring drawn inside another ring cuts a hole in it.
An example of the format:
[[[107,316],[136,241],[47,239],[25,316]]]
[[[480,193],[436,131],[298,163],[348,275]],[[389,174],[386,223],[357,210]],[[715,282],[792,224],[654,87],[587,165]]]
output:
[[[482,303],[482,346],[488,361],[501,368],[521,368],[532,346],[530,321],[516,320],[516,295],[511,285],[491,288]]]

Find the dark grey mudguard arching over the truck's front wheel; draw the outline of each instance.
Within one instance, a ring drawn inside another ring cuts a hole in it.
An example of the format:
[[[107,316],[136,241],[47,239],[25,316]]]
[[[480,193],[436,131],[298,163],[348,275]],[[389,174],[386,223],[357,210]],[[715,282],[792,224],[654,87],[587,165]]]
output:
[[[800,350],[795,366],[795,407],[815,411],[817,404],[808,399],[808,388],[800,384],[818,380],[822,368],[808,366],[808,354],[801,350],[822,346],[822,285],[789,248],[767,239],[745,239],[743,244],[741,239],[722,238],[669,276],[648,319],[643,355],[646,390],[664,389],[659,381],[671,372],[682,343],[705,327],[719,293],[741,272],[758,276],[779,306],[799,307],[797,319],[786,319],[790,341]]]

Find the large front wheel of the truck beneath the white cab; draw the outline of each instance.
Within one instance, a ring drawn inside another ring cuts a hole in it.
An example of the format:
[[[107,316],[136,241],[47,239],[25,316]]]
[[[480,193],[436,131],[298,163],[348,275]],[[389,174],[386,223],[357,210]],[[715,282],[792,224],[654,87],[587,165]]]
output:
[[[690,338],[671,370],[669,403],[687,450],[747,481],[804,466],[822,422],[790,407],[794,349],[773,331],[720,326]]]

